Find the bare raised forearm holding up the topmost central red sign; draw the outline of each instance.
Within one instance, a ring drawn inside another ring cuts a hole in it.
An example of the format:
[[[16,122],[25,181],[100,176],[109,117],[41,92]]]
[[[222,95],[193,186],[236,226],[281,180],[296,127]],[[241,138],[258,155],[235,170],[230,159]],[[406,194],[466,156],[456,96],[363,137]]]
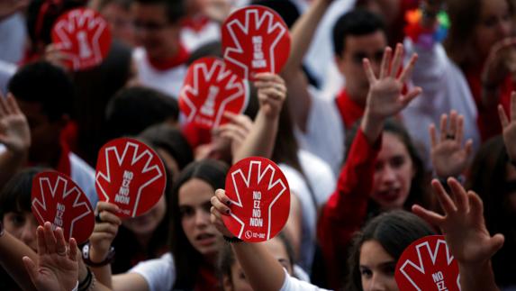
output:
[[[252,156],[270,159],[274,150],[279,117],[269,117],[263,110],[258,111],[255,123],[240,150],[235,153],[233,162]]]

